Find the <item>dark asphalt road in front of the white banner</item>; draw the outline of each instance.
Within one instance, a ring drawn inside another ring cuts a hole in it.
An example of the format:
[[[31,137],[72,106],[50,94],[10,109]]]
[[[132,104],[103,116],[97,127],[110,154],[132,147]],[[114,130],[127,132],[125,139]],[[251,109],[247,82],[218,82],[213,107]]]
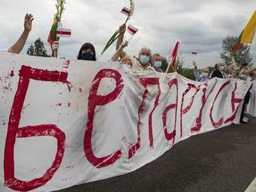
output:
[[[61,192],[242,192],[256,177],[256,118],[195,135],[139,170]]]

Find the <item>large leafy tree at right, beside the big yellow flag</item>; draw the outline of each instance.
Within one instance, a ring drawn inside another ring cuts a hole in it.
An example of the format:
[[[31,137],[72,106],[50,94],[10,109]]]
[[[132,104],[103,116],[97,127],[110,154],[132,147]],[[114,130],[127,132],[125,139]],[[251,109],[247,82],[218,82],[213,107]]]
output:
[[[244,45],[242,49],[237,50],[236,53],[232,52],[232,47],[236,44],[237,37],[227,36],[222,41],[222,51],[220,53],[220,58],[223,59],[225,63],[251,63],[252,57],[249,53],[250,47]]]

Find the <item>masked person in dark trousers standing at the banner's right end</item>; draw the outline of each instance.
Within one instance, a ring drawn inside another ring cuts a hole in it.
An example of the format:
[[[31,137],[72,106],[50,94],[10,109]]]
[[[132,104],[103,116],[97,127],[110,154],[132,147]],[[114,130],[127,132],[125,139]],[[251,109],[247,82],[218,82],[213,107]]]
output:
[[[240,79],[247,81],[248,75],[251,74],[255,70],[256,70],[256,67],[251,67],[251,69],[248,69],[248,63],[243,63],[242,70],[240,70],[240,74],[239,74]],[[251,85],[251,87],[252,87],[252,85]],[[245,97],[244,97],[244,104],[243,104],[242,111],[240,114],[240,123],[249,122],[249,118],[244,115],[244,111],[247,108],[247,104],[249,103],[250,98],[251,98],[251,87],[249,88],[249,90],[247,91],[247,93],[245,94]]]

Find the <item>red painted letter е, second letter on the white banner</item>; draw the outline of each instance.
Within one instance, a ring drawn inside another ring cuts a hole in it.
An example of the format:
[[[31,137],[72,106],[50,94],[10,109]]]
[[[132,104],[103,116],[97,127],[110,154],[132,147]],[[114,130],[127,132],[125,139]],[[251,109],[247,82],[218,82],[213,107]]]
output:
[[[99,89],[99,84],[103,78],[113,78],[116,81],[115,90],[107,95],[99,95],[97,91]],[[120,158],[122,152],[118,149],[115,153],[109,156],[96,157],[92,150],[92,131],[93,131],[93,121],[95,117],[95,108],[97,106],[107,105],[119,97],[119,94],[123,91],[123,79],[118,71],[112,69],[102,69],[96,74],[94,80],[92,81],[92,87],[88,96],[88,122],[87,129],[85,130],[85,140],[84,149],[85,156],[88,161],[97,168],[102,168],[105,166],[112,165]]]

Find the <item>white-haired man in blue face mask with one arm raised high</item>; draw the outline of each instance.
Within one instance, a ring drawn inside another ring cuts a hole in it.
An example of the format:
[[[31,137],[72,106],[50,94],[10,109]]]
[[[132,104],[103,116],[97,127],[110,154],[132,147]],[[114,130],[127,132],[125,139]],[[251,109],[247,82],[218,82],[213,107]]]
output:
[[[126,32],[126,25],[122,25],[119,27],[119,38],[117,39],[116,43],[116,51],[119,51],[115,58],[112,57],[112,61],[117,61],[118,58],[122,59],[123,57],[130,57],[128,54],[123,50],[120,49],[120,46],[123,43],[123,36]],[[144,47],[139,52],[139,57],[130,57],[132,60],[132,70],[151,70],[154,71],[154,67],[151,67],[151,50],[147,47]]]

